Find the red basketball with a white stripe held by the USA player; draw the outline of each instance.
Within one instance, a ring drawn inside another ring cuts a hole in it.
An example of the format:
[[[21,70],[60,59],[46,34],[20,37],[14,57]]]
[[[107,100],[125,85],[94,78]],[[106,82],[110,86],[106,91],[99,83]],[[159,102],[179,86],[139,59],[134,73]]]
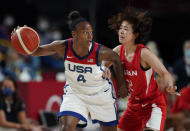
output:
[[[38,33],[30,27],[20,27],[11,36],[13,49],[23,55],[29,55],[35,52],[39,43]]]

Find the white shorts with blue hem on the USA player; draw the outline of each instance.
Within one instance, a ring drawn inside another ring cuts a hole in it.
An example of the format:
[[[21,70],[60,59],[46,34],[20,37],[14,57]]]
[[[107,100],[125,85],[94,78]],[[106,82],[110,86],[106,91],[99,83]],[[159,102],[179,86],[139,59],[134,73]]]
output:
[[[74,93],[68,84],[64,87],[63,100],[58,118],[74,116],[80,119],[78,127],[87,126],[87,119],[103,126],[118,124],[115,105],[115,93],[112,84],[93,95]]]

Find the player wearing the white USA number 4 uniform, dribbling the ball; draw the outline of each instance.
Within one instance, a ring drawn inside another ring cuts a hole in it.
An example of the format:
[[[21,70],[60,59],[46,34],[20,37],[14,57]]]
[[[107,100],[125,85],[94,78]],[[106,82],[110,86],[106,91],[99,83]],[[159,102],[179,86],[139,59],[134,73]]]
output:
[[[119,94],[126,97],[128,90],[121,60],[117,53],[92,40],[91,24],[77,11],[69,14],[68,22],[73,38],[40,46],[32,54],[46,56],[57,53],[63,57],[66,85],[58,113],[59,130],[75,131],[77,125],[86,126],[90,114],[92,122],[98,122],[102,131],[116,131],[118,121],[113,86],[109,80],[102,78],[104,70],[101,62],[113,62]]]

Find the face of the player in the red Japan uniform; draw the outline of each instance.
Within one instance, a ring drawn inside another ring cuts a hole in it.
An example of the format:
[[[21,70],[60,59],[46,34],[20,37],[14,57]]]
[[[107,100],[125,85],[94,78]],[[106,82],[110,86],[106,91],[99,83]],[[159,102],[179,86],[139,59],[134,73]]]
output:
[[[136,36],[133,33],[132,24],[130,24],[128,21],[123,21],[121,23],[118,35],[120,43],[135,42]]]

